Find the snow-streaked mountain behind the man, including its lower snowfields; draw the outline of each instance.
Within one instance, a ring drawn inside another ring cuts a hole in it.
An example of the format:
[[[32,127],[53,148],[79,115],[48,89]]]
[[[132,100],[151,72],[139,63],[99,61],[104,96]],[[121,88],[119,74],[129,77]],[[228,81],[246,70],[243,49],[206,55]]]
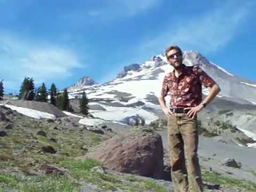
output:
[[[220,85],[218,98],[221,101],[218,101],[218,105],[232,102],[228,107],[240,103],[239,105],[247,104],[253,110],[256,109],[255,82],[228,73],[198,52],[186,51],[183,52],[183,57],[185,65],[199,65]],[[77,98],[85,91],[90,99],[90,113],[94,117],[124,124],[131,123],[132,119],[140,119],[149,124],[163,115],[157,97],[165,74],[172,70],[173,67],[166,62],[164,54],[156,55],[140,65],[135,63],[125,67],[113,81],[84,86],[80,83],[80,86],[76,86],[79,89],[69,89],[69,98]],[[208,90],[203,89],[203,93],[207,94]],[[166,101],[169,100],[168,97]],[[256,133],[255,127],[248,129]]]

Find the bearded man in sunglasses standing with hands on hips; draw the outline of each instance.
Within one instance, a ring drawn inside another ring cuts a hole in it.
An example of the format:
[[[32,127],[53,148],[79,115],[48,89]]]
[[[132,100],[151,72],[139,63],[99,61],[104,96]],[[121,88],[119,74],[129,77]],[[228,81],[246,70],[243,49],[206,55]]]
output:
[[[158,100],[168,119],[167,137],[174,191],[203,191],[197,157],[197,113],[215,98],[220,87],[198,66],[185,66],[178,46],[167,47],[165,56],[174,70],[164,77]],[[202,85],[211,87],[203,102]],[[165,105],[167,94],[171,97],[170,107]]]

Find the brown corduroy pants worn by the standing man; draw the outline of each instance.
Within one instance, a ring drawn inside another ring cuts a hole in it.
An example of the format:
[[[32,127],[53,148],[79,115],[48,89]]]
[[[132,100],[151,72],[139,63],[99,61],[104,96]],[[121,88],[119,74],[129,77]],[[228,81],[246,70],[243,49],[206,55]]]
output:
[[[167,134],[175,192],[203,191],[201,169],[197,157],[196,125],[196,117],[189,118],[187,114],[172,114],[168,118]]]

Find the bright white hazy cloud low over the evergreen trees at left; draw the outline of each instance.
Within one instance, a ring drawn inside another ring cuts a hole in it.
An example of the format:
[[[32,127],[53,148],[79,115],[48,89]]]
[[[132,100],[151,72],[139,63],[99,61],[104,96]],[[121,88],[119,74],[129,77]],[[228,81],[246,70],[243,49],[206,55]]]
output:
[[[80,68],[77,55],[63,47],[0,31],[1,78],[9,89],[17,89],[23,78],[35,83],[71,76],[71,69]]]

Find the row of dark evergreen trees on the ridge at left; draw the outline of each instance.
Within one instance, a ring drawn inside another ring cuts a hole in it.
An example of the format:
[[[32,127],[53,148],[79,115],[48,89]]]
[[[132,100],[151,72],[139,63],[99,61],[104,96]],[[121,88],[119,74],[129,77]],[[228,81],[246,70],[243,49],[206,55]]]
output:
[[[0,98],[1,98],[1,83],[0,82]],[[2,83],[3,84],[3,83]],[[50,99],[49,99],[50,96]],[[58,92],[57,87],[54,83],[52,83],[51,88],[49,90],[46,89],[45,84],[39,86],[37,89],[34,86],[34,79],[25,77],[23,80],[19,95],[19,99],[29,100],[29,101],[41,101],[41,102],[50,102],[52,105],[58,107],[60,110],[66,111],[74,111],[69,104],[68,91],[67,88],[63,90],[63,92]],[[84,115],[89,114],[89,100],[83,92],[82,98],[79,102],[80,112]]]

